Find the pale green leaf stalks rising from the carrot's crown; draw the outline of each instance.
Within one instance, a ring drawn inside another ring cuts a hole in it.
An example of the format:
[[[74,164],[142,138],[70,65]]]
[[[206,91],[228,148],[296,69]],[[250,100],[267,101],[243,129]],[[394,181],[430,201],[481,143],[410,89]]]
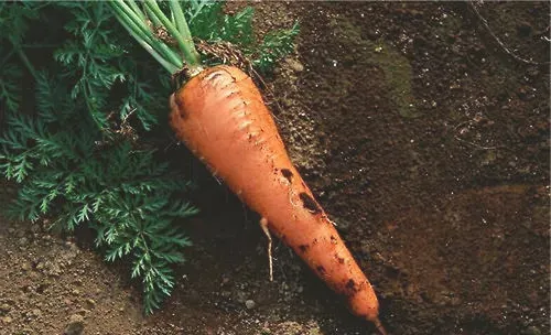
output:
[[[180,72],[184,66],[191,74],[201,72],[201,60],[193,43],[193,37],[177,0],[170,0],[171,17],[169,19],[156,3],[156,0],[143,1],[143,9],[134,0],[114,0],[110,2],[115,15],[125,29],[171,74]],[[155,28],[165,29],[179,46],[177,51],[166,45],[152,31],[149,20]]]

